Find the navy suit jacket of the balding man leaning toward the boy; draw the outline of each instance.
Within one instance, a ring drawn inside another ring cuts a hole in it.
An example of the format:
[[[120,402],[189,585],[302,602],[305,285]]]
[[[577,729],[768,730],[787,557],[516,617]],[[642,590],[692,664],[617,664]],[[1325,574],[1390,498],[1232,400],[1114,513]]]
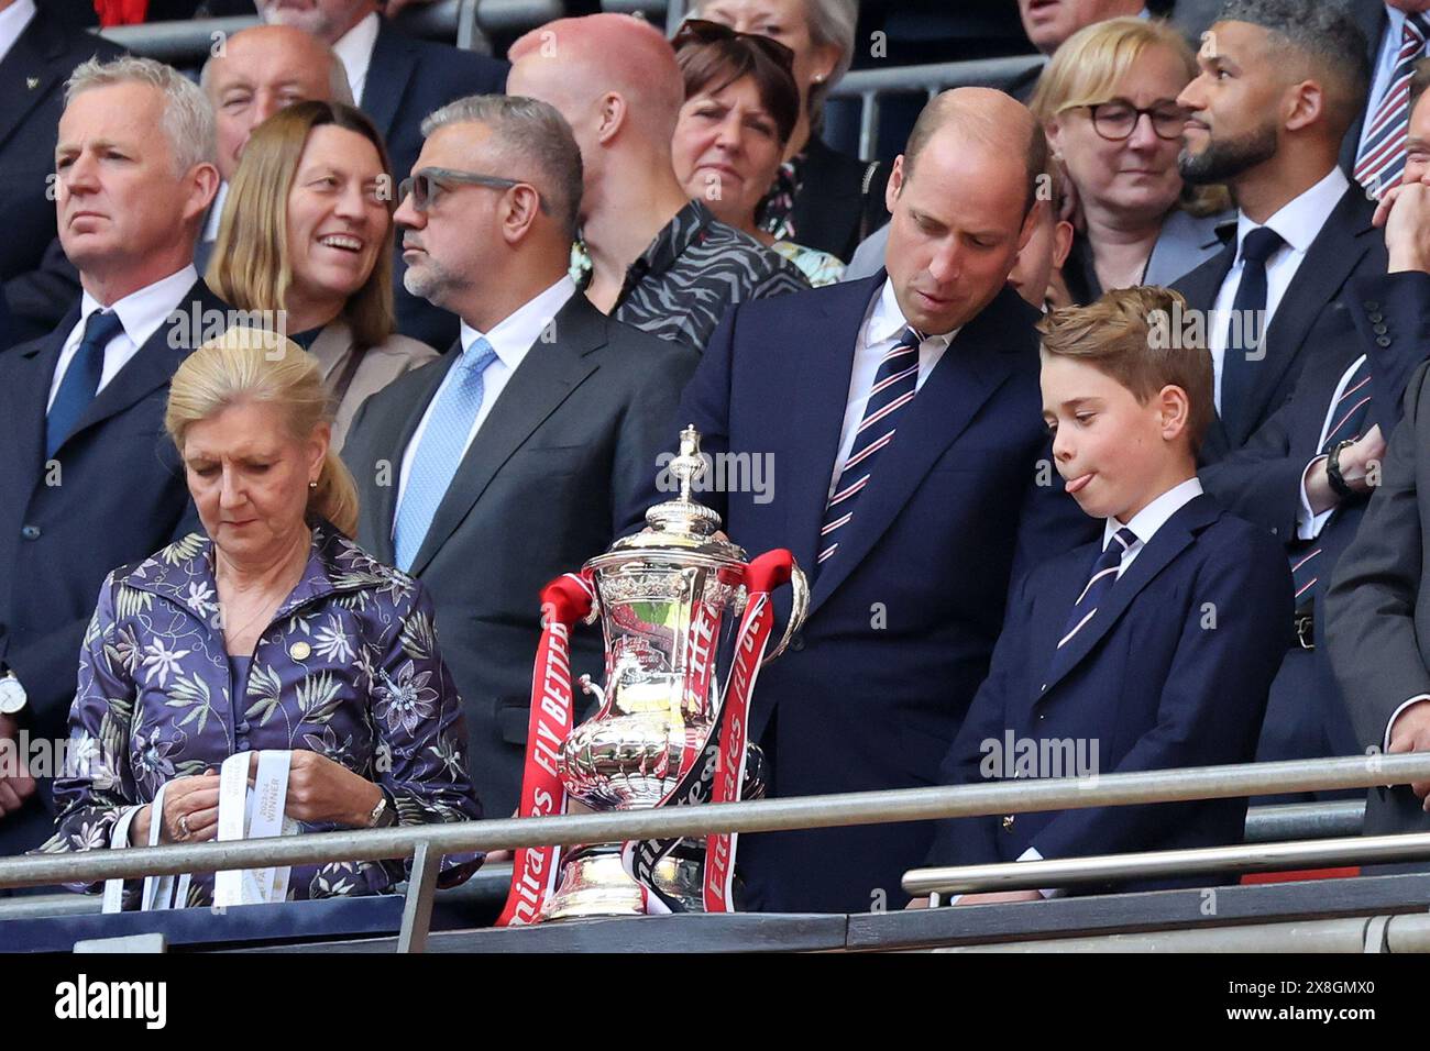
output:
[[[772,489],[705,493],[751,555],[789,548],[815,566],[854,347],[884,275],[732,307],[681,403],[702,449],[769,456]],[[761,672],[751,739],[774,795],[935,782],[988,668],[1015,553],[1031,563],[1093,528],[1038,482],[1037,312],[1011,289],[928,375],[818,573],[809,619]],[[1055,482],[1057,475],[1054,473]],[[782,589],[788,591],[788,589]],[[778,619],[788,596],[776,598]],[[749,904],[865,911],[922,861],[931,828],[869,825],[741,837]]]

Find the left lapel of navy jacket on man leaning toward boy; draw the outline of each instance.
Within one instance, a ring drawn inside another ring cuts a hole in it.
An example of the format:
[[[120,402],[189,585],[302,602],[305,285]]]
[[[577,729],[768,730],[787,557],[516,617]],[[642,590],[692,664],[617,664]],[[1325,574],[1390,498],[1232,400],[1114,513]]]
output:
[[[785,536],[795,561],[814,569],[819,552],[819,525],[829,500],[829,480],[834,478],[834,458],[839,452],[839,430],[849,399],[849,378],[854,372],[854,347],[864,326],[864,315],[874,296],[884,287],[881,270],[874,277],[851,282],[841,299],[825,296],[824,316],[807,339],[795,346],[802,349],[791,390],[789,456],[794,466],[779,483],[786,488]],[[834,300],[834,302],[829,302]],[[792,347],[791,347],[792,349]]]

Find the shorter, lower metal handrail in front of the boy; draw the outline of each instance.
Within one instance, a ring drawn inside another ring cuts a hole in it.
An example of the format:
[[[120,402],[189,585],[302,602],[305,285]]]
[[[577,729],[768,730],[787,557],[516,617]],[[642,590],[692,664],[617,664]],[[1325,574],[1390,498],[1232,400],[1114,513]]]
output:
[[[915,868],[904,874],[902,884],[905,891],[919,897],[934,892],[1031,891],[1040,887],[1084,887],[1167,877],[1334,868],[1426,858],[1430,858],[1430,832],[1401,832],[1288,844],[1195,847],[1180,851],[1098,854],[1087,858],[1010,861],[994,865]]]

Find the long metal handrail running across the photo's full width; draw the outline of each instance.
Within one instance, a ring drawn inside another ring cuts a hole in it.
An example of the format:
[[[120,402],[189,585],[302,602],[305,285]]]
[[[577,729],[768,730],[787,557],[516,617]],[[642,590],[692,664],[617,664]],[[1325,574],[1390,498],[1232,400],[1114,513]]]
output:
[[[1276,792],[1401,785],[1430,779],[1430,754],[1298,759],[1193,766],[1094,778],[1011,781],[951,788],[904,788],[789,799],[659,808],[579,816],[506,818],[450,825],[319,832],[236,842],[134,847],[0,859],[0,888],[96,882],[142,875],[269,865],[430,858],[545,844],[592,844],[715,832],[892,824],[934,818],[1181,802]],[[1041,864],[1041,862],[1040,862]],[[416,874],[415,874],[416,879]],[[1044,884],[1048,885],[1048,884]]]

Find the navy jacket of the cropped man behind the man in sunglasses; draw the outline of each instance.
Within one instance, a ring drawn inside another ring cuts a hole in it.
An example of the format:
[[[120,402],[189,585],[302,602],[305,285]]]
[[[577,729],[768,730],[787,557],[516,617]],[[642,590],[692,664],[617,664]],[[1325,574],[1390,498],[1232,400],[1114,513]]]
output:
[[[383,19],[363,83],[362,109],[388,143],[392,177],[400,183],[412,173],[422,153],[423,117],[468,94],[502,94],[506,70],[508,64],[499,59],[405,36]],[[429,346],[450,346],[459,322],[402,287],[408,270],[402,262],[402,230],[396,237],[392,279],[398,330]]]

